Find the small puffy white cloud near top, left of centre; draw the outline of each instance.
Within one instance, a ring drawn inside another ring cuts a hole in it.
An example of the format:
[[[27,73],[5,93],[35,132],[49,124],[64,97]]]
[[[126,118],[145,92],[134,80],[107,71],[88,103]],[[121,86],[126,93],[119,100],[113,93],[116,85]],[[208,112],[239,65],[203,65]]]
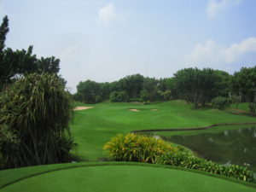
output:
[[[108,26],[113,20],[121,20],[123,14],[117,13],[113,3],[108,3],[104,8],[99,9],[97,20],[104,26]]]

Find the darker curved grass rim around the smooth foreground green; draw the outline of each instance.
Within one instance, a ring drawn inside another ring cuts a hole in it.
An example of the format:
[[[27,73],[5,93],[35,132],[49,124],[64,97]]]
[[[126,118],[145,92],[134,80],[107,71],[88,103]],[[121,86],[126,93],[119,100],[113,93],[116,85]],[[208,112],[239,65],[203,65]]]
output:
[[[249,183],[249,182],[245,182],[245,181],[241,181],[238,180],[236,178],[232,178],[232,177],[225,177],[225,176],[221,176],[218,174],[213,174],[213,173],[209,173],[209,172],[202,172],[202,171],[198,171],[198,170],[193,170],[193,169],[189,169],[189,168],[184,168],[184,167],[179,167],[179,166],[166,166],[166,165],[159,165],[159,164],[148,164],[148,163],[138,163],[138,162],[116,162],[116,161],[112,161],[112,162],[81,162],[81,163],[75,163],[75,164],[54,164],[54,165],[46,165],[49,166],[49,169],[44,170],[44,171],[38,171],[38,172],[33,172],[33,173],[27,173],[25,176],[21,176],[21,177],[17,177],[16,179],[12,180],[12,181],[6,181],[3,183],[0,183],[0,189],[3,189],[6,186],[9,186],[13,183],[17,183],[21,180],[24,180],[26,178],[29,177],[35,177],[38,175],[42,175],[44,173],[48,173],[48,172],[56,172],[56,171],[61,171],[61,170],[66,170],[66,169],[73,169],[73,168],[79,168],[79,167],[86,167],[86,166],[149,166],[149,167],[160,167],[160,168],[167,168],[167,169],[174,169],[174,170],[181,170],[181,171],[185,171],[185,172],[194,172],[197,174],[202,174],[202,175],[206,175],[206,176],[210,176],[210,177],[216,177],[216,178],[220,178],[220,179],[224,179],[233,183],[239,183],[242,185],[246,185],[247,187],[252,187],[254,189],[256,189],[256,183]],[[54,166],[54,167],[52,167]],[[60,166],[60,167],[59,167]],[[10,170],[20,170],[20,169],[27,169],[27,168],[36,168],[36,167],[44,167],[45,166],[29,166],[29,167],[21,167],[21,168],[16,168],[16,169],[10,169]],[[6,172],[8,170],[3,170],[0,171],[0,176],[2,172]],[[34,169],[32,169],[32,171],[34,171]]]

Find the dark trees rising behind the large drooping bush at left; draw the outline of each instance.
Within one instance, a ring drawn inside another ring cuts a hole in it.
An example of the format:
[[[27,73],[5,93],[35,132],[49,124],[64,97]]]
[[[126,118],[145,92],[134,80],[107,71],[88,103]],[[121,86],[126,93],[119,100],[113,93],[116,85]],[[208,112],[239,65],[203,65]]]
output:
[[[0,26],[0,90],[7,84],[29,73],[58,73],[60,60],[54,56],[37,58],[32,54],[32,46],[28,49],[4,49],[6,35],[9,32],[9,20],[5,16]]]

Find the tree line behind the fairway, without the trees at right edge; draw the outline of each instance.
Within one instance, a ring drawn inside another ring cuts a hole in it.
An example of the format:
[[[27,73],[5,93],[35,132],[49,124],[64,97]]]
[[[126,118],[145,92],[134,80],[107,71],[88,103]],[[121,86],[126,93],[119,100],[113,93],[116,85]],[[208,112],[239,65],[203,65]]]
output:
[[[216,96],[228,96],[230,75],[219,70],[186,68],[172,78],[154,79],[140,74],[126,76],[112,83],[80,82],[75,99],[85,103],[110,100],[112,102],[168,101],[184,99],[187,102],[205,105]]]

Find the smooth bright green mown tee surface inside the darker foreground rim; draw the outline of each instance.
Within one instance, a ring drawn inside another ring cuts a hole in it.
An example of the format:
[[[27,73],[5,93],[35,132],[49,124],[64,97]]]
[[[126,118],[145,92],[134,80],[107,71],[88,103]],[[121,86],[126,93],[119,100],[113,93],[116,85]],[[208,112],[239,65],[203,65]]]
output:
[[[36,168],[36,167],[35,167]],[[20,169],[21,170],[21,169]],[[1,172],[0,172],[1,173]],[[217,177],[164,167],[89,165],[42,173],[9,184],[4,192],[250,192],[255,189]]]

